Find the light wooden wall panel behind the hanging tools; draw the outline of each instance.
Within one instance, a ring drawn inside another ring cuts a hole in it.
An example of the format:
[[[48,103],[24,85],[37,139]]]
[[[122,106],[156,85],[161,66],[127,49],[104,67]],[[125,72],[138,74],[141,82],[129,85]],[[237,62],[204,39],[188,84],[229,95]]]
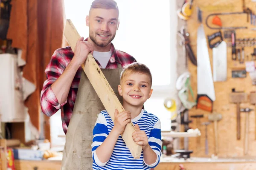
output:
[[[192,17],[187,21],[188,32],[190,34],[190,41],[192,45],[192,50],[196,55],[196,40],[197,40],[197,30],[200,23],[198,23],[197,10],[196,7],[200,7],[202,10],[202,20],[204,24],[205,36],[213,34],[219,30],[210,29],[206,26],[205,19],[209,14],[221,13],[221,12],[241,12],[242,0],[194,0],[194,11]],[[245,0],[246,7],[249,7],[252,11],[256,13],[256,3],[251,0]],[[249,29],[236,29],[236,38],[254,38],[256,37],[256,31],[250,30],[253,26],[247,23],[246,14],[235,14],[227,16],[219,16],[222,21],[222,26],[247,26]],[[209,18],[208,23],[211,24],[212,17]],[[211,24],[211,26],[214,26]],[[216,27],[216,26],[215,26]],[[218,27],[218,26],[217,26]],[[255,26],[254,26],[255,27]],[[221,29],[222,37],[224,38],[224,29]],[[224,39],[226,42],[227,39]],[[212,67],[212,49],[209,48],[209,58]],[[245,47],[245,61],[247,55],[249,59],[251,58],[251,53],[253,53],[254,47]],[[256,46],[255,46],[256,48]],[[240,48],[241,49],[241,48]],[[252,80],[250,75],[247,73],[246,78],[232,78],[231,71],[236,68],[244,68],[244,64],[239,64],[239,62],[232,61],[232,48],[227,47],[227,81],[226,82],[214,82],[215,96],[216,100],[213,103],[213,111],[221,113],[222,119],[218,122],[218,144],[219,144],[219,157],[240,157],[244,156],[244,123],[245,114],[241,113],[241,139],[238,141],[236,139],[236,104],[229,102],[229,93],[231,93],[232,88],[236,88],[236,91],[245,91],[248,95],[250,91],[256,91],[256,86],[252,85]],[[192,74],[191,84],[192,89],[195,94],[197,94],[197,67],[192,65],[189,61],[188,63],[189,72]],[[242,103],[241,108],[249,107],[254,109],[253,105],[248,103]],[[195,114],[204,114],[204,118],[200,119],[201,122],[208,122],[207,111],[201,109],[196,109],[195,107],[189,111],[189,116]],[[193,122],[189,125],[192,128],[196,127],[195,119],[189,117]],[[255,114],[254,111],[250,112],[250,125],[249,125],[249,153],[248,156],[256,156],[256,139],[255,139]],[[214,153],[215,143],[214,143],[214,126],[211,123],[208,126],[208,143],[209,143],[209,154],[205,155],[205,127],[201,125],[199,127],[201,130],[201,137],[199,144],[196,138],[189,138],[189,149],[193,150],[192,156],[211,156]]]

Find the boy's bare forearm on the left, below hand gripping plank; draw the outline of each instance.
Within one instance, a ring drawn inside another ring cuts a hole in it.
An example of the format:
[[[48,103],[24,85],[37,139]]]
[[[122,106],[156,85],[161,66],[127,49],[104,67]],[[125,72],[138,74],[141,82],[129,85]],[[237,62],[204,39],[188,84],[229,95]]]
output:
[[[118,137],[119,134],[112,129],[105,141],[96,149],[97,157],[102,163],[110,159]]]

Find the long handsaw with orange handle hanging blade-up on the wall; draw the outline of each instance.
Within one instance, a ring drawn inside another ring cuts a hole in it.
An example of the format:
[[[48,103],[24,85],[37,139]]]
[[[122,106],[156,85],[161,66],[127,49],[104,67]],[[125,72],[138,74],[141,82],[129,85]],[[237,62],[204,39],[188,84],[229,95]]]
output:
[[[197,31],[197,108],[212,112],[212,104],[215,101],[215,90],[212,79],[207,40],[202,24],[201,10],[198,8],[198,20],[201,23]]]

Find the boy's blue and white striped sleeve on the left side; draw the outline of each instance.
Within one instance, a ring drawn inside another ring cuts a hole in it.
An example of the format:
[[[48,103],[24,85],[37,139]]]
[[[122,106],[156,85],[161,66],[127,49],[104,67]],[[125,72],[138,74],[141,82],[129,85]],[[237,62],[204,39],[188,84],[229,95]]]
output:
[[[92,157],[93,161],[100,167],[104,167],[107,162],[102,163],[96,154],[96,149],[101,145],[108,136],[107,120],[102,113],[99,113],[93,128]]]

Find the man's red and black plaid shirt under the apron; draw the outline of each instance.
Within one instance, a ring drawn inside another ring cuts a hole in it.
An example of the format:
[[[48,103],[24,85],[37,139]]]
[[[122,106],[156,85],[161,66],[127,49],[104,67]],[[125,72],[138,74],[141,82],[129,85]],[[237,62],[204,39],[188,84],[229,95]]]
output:
[[[116,50],[113,44],[111,44],[111,51],[112,51],[112,56],[109,59],[108,65],[106,66],[106,68],[111,68],[111,69],[118,68],[117,63],[120,63],[123,67],[125,65],[136,62],[134,57],[130,56],[125,52]],[[71,118],[75,101],[76,101],[79,81],[81,78],[81,71],[82,71],[81,66],[76,72],[76,75],[70,87],[69,94],[67,96],[67,100],[64,103],[62,104],[58,103],[58,99],[53,93],[51,85],[64,72],[65,68],[67,68],[67,65],[70,63],[73,56],[74,56],[74,53],[70,48],[70,46],[66,48],[59,48],[54,52],[49,64],[47,65],[47,68],[45,69],[47,80],[44,82],[43,89],[41,91],[41,100],[40,100],[42,111],[47,116],[52,116],[61,108],[62,127],[65,134],[67,133],[67,127],[69,125],[70,118]],[[99,64],[97,60],[96,62],[98,63],[99,67],[102,68],[102,66]]]

